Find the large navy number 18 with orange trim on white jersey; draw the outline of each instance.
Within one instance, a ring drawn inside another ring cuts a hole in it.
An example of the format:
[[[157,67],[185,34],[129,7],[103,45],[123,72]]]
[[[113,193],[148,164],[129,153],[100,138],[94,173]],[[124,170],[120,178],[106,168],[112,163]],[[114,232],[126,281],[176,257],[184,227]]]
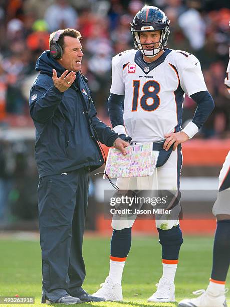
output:
[[[139,100],[140,80],[133,81],[133,104],[132,112],[137,111]],[[142,88],[143,95],[140,98],[140,106],[144,111],[154,111],[160,105],[160,84],[157,81],[150,80],[145,82]]]

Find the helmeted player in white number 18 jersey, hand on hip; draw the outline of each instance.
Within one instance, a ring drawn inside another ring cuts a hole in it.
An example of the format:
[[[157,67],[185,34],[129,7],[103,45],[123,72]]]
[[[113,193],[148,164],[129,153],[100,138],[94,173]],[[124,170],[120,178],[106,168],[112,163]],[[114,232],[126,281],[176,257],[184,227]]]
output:
[[[169,22],[157,7],[144,6],[131,24],[135,50],[124,51],[112,60],[108,108],[113,130],[128,134],[132,144],[152,142],[153,150],[159,150],[155,174],[119,178],[117,186],[122,190],[170,190],[179,196],[181,143],[198,132],[214,107],[198,59],[185,51],[165,48]],[[191,122],[181,130],[185,93],[197,103],[197,108]],[[179,202],[172,208],[179,214]],[[122,300],[121,279],[135,217],[113,215],[109,275],[93,295]],[[175,301],[174,277],[183,242],[179,219],[162,214],[156,218],[156,227],[163,274],[148,301]]]

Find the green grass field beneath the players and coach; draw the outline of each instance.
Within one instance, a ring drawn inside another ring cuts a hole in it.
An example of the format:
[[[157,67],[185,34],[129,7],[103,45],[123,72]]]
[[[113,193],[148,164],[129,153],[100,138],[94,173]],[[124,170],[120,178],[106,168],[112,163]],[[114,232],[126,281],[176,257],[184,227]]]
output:
[[[212,237],[185,237],[175,279],[177,301],[206,288],[211,270]],[[39,241],[0,240],[0,296],[35,296],[41,299],[41,252]],[[84,288],[94,292],[108,274],[110,239],[86,237],[84,259],[87,276]],[[133,237],[123,274],[124,301],[87,303],[91,306],[177,306],[177,303],[148,303],[161,277],[161,248],[157,237]],[[228,283],[229,278],[227,279]],[[228,295],[229,301],[229,295]],[[19,304],[14,304],[14,306]],[[20,304],[19,306],[22,306]],[[62,304],[56,304],[61,306]],[[79,304],[81,306],[83,304]],[[12,306],[6,305],[6,306]],[[34,306],[25,304],[25,306]]]

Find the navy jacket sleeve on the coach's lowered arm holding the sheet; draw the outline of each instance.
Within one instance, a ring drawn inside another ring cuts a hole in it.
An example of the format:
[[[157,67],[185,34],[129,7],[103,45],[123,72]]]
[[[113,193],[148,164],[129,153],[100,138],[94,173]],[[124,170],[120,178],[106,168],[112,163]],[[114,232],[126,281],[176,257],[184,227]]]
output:
[[[97,132],[98,140],[108,147],[113,146],[115,139],[118,138],[118,134],[112,131],[110,126],[107,126],[104,122],[100,121],[96,116],[97,112],[93,103],[91,104],[91,114],[91,123]]]

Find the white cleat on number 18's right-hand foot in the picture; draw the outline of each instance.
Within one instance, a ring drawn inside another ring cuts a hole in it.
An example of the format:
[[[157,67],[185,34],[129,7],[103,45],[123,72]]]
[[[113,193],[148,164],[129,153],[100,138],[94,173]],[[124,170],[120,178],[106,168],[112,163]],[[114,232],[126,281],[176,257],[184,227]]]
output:
[[[175,285],[167,278],[161,277],[159,283],[156,283],[157,290],[148,298],[148,301],[175,301]]]

